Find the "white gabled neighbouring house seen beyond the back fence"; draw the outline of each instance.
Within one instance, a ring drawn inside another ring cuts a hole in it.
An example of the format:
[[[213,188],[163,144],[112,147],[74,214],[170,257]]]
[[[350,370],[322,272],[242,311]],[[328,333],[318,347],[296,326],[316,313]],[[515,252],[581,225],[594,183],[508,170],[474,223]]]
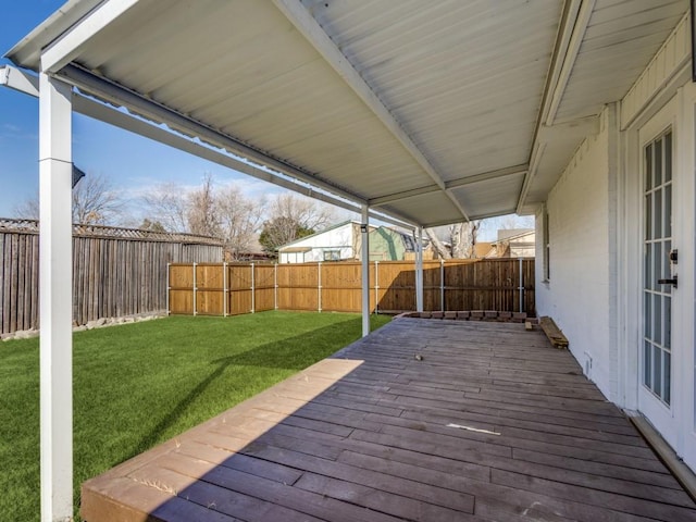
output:
[[[386,226],[370,227],[370,261],[398,261],[415,250],[407,233]],[[279,263],[360,260],[360,223],[347,221],[278,248]]]

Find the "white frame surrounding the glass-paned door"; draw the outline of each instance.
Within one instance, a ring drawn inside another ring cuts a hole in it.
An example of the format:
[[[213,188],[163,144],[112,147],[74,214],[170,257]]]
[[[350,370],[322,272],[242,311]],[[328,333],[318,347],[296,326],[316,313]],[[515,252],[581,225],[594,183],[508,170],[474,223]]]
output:
[[[681,79],[681,82],[683,82]],[[679,84],[678,84],[679,85]],[[673,147],[673,248],[679,249],[679,289],[672,297],[673,364],[671,411],[678,426],[670,444],[696,471],[696,84],[662,91],[619,139],[618,310],[619,405],[638,410],[643,339],[643,136],[652,122],[671,112]],[[659,126],[656,124],[656,126]],[[662,129],[664,125],[662,125]],[[655,129],[652,137],[659,135]],[[621,327],[622,326],[622,327]]]

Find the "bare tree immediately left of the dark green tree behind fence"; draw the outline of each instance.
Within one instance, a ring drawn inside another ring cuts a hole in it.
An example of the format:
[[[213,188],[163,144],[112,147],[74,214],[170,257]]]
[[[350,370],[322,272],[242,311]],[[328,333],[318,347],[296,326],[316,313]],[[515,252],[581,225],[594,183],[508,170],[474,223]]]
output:
[[[264,207],[263,199],[254,202],[234,185],[222,189],[215,199],[225,250],[232,259],[243,260],[256,243]]]

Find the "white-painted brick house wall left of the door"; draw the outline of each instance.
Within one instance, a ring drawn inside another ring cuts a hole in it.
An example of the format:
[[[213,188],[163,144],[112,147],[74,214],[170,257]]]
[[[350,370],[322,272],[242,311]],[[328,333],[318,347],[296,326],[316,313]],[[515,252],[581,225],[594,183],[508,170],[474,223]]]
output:
[[[609,153],[612,114],[605,110],[600,133],[582,144],[549,194],[550,277],[543,282],[543,271],[537,271],[536,290],[538,314],[556,321],[583,370],[610,399],[616,396],[616,333],[610,321],[616,313],[616,274],[609,247],[614,227],[608,226],[614,219],[609,182],[616,169]],[[542,219],[537,226],[543,237]],[[543,246],[537,248],[543,259]]]

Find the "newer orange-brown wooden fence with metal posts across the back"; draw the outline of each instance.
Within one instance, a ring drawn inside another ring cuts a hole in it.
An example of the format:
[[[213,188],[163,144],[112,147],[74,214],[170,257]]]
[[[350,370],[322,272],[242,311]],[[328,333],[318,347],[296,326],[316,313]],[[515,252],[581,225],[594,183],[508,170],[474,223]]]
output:
[[[359,312],[358,262],[171,264],[167,310],[235,315],[262,310]],[[535,314],[534,259],[423,262],[426,311],[497,310]],[[413,261],[370,263],[370,309],[415,310]]]

